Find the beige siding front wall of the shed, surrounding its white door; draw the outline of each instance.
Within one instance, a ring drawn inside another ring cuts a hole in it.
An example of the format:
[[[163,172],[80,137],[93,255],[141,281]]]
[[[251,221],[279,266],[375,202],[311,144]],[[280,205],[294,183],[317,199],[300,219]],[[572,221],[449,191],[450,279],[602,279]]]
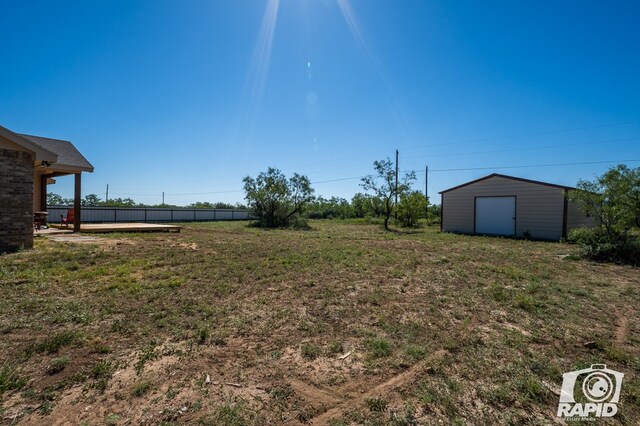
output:
[[[442,194],[442,229],[474,233],[475,197],[516,196],[516,236],[560,240],[564,213],[564,190],[494,176]]]

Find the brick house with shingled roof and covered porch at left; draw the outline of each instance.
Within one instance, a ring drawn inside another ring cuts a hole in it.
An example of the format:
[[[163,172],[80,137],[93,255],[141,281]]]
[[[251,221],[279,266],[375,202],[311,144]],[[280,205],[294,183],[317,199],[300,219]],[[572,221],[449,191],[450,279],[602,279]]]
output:
[[[0,126],[0,252],[33,246],[34,212],[47,209],[47,185],[75,176],[74,230],[80,229],[82,172],[93,166],[71,142]]]

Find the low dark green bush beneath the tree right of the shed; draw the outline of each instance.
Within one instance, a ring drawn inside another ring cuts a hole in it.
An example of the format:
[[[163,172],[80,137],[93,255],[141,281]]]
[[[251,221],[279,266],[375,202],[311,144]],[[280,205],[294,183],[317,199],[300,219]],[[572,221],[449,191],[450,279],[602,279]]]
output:
[[[570,242],[576,243],[587,259],[640,266],[640,236],[623,233],[610,236],[601,228],[576,228],[569,232]]]

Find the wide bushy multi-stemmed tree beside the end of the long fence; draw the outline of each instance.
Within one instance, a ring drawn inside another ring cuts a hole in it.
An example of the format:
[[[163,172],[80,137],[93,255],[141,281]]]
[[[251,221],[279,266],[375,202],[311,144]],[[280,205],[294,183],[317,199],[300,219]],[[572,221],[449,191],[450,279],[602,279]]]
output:
[[[290,179],[278,169],[269,167],[255,179],[243,180],[245,198],[258,224],[267,228],[288,226],[313,200],[311,182],[294,173]]]

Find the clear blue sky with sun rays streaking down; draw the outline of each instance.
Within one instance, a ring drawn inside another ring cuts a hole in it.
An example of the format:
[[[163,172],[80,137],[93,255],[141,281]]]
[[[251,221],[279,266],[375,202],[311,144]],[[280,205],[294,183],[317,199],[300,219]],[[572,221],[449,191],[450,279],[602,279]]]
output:
[[[95,166],[84,194],[243,201],[242,177],[268,166],[322,182],[395,148],[401,169],[434,170],[431,195],[492,171],[573,185],[611,165],[436,170],[640,159],[635,1],[0,5],[0,124],[73,141]]]

